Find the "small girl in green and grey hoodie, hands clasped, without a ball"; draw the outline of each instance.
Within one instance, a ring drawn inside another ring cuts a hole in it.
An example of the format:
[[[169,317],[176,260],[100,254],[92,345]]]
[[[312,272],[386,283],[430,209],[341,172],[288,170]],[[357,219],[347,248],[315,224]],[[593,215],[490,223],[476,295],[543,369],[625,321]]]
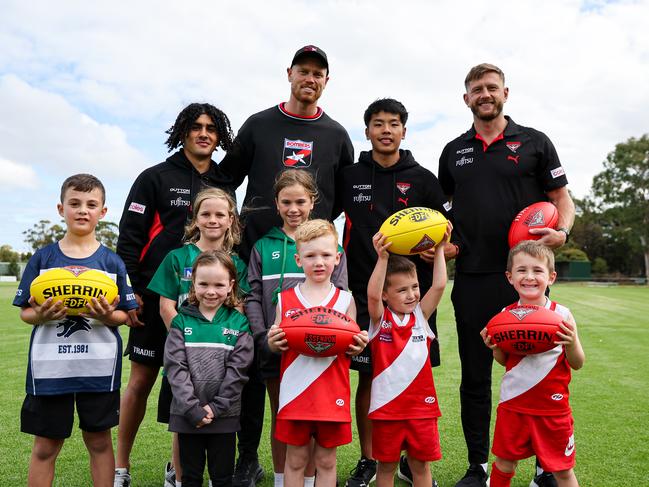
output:
[[[237,304],[230,256],[200,254],[189,304],[171,322],[164,355],[173,392],[169,431],[178,433],[184,487],[202,485],[206,457],[212,485],[232,484],[241,390],[253,360],[250,325]]]

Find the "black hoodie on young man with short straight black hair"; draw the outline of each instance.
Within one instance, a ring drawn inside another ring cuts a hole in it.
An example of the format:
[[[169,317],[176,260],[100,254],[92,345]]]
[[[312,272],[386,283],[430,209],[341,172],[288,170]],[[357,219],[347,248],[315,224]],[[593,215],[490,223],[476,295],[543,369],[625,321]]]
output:
[[[355,294],[367,294],[376,263],[372,237],[388,216],[404,208],[425,206],[448,217],[446,198],[435,175],[420,166],[409,150],[399,153],[399,161],[384,168],[372,159],[371,151],[361,152],[358,163],[342,173],[339,195],[347,219],[343,247],[349,288]],[[432,271],[421,258],[411,259],[417,265],[423,296],[431,285]]]

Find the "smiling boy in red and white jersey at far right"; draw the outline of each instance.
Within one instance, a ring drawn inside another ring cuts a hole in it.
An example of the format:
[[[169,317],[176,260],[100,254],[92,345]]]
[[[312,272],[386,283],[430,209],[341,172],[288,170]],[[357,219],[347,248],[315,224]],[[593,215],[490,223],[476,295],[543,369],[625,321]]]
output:
[[[520,304],[544,306],[563,317],[556,347],[534,355],[507,354],[481,334],[494,359],[505,366],[491,451],[496,455],[491,487],[509,487],[518,460],[536,455],[541,467],[552,472],[559,487],[578,487],[574,473],[574,422],[568,404],[570,369],[584,365],[584,350],[570,310],[550,301],[546,289],[554,283],[554,254],[544,245],[525,240],[509,252],[507,279]]]

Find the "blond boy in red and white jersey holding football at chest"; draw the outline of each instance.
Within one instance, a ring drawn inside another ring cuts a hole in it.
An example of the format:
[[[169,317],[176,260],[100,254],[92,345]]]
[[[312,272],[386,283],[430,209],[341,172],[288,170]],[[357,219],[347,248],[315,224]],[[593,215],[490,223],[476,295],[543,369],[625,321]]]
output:
[[[284,485],[302,487],[309,460],[311,437],[318,485],[336,485],[336,447],[352,441],[349,407],[350,357],[362,352],[367,332],[354,337],[345,354],[308,357],[290,350],[279,327],[283,317],[314,306],[325,306],[356,319],[351,293],[336,288],[331,274],[340,260],[338,234],[326,220],[310,220],[295,233],[297,265],[305,281],[279,294],[275,323],[268,330],[268,347],[282,352],[279,408],[275,438],[287,444]]]

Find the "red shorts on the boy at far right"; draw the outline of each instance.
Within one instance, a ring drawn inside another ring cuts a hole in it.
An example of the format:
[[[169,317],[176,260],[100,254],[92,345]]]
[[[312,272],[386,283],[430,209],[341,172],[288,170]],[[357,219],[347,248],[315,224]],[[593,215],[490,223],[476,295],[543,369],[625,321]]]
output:
[[[575,429],[572,414],[532,416],[498,408],[491,451],[504,460],[536,455],[547,472],[575,466]]]

